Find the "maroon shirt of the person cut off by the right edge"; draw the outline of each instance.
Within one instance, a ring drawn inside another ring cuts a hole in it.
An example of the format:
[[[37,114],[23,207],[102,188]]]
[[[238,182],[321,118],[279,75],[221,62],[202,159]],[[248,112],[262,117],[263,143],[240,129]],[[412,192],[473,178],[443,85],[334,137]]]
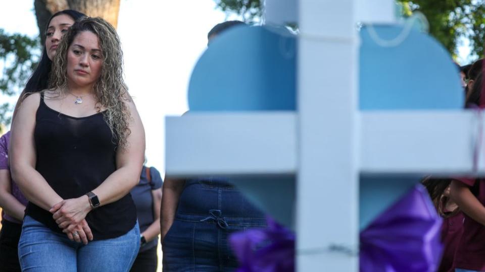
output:
[[[472,187],[475,179],[462,178],[459,181]],[[485,179],[478,179],[476,198],[485,206]],[[464,215],[463,234],[455,254],[456,268],[485,270],[485,226]]]

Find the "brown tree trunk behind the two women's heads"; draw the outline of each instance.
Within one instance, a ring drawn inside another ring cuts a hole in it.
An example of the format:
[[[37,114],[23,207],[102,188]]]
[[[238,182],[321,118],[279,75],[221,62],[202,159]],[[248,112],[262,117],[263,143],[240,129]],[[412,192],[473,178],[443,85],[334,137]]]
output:
[[[116,28],[120,0],[34,0],[34,9],[40,39],[44,44],[47,21],[56,12],[66,9],[76,10],[91,17],[101,17]]]

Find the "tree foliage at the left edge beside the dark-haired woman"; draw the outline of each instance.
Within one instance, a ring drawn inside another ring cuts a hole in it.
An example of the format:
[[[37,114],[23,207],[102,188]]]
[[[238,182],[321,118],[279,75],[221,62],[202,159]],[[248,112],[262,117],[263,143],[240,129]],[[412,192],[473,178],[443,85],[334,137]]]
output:
[[[22,34],[7,34],[0,29],[0,94],[13,96],[23,88],[37,65],[40,54],[39,39]],[[9,124],[7,113],[12,111],[9,103],[0,104],[0,124]]]

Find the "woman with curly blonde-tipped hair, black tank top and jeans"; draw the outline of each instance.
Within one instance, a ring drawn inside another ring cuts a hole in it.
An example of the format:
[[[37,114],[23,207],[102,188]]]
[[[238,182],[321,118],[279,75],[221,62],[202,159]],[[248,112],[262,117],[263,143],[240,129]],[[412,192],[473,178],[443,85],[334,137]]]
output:
[[[116,30],[83,18],[57,48],[50,88],[20,102],[10,160],[29,200],[23,270],[128,271],[136,257],[129,191],[143,165],[144,131],[122,62]]]

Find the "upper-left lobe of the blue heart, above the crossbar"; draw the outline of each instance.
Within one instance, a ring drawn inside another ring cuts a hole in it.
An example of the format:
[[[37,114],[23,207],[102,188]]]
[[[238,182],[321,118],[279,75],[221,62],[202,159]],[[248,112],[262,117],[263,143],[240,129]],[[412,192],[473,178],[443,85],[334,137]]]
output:
[[[239,26],[217,36],[190,78],[190,111],[295,110],[294,35]]]

